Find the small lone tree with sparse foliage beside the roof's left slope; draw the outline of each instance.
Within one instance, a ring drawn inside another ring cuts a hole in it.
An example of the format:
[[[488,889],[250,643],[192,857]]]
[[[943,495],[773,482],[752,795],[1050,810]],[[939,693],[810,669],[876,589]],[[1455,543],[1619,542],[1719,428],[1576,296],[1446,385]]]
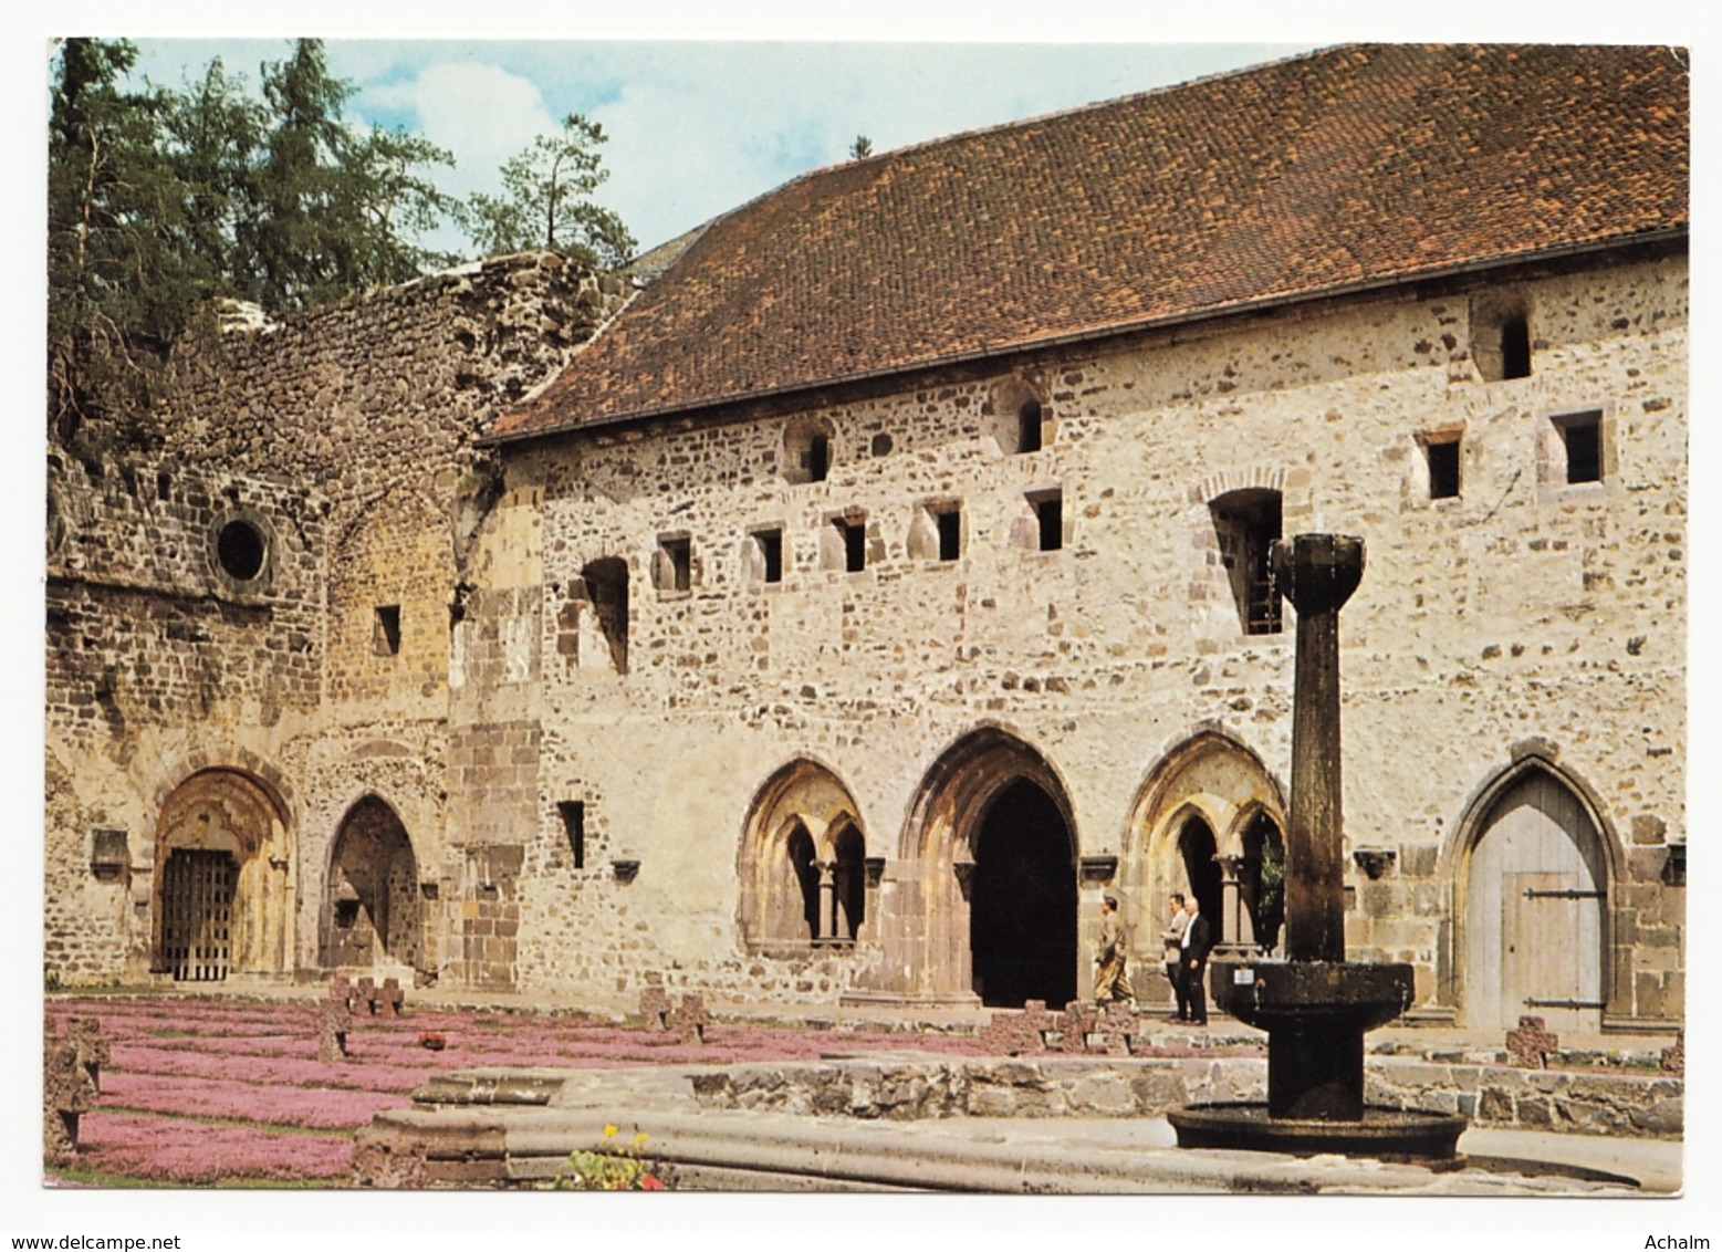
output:
[[[561,134],[541,134],[503,165],[503,196],[467,200],[467,232],[484,253],[560,248],[591,265],[623,265],[634,236],[622,219],[587,196],[610,177],[598,145],[604,131],[568,114]]]

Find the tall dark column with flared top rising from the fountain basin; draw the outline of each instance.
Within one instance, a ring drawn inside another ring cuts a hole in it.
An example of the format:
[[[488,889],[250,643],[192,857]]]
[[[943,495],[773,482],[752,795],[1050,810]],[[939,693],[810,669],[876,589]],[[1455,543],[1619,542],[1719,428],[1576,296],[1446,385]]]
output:
[[[1276,541],[1274,580],[1297,608],[1292,820],[1286,830],[1286,958],[1345,959],[1340,808],[1340,606],[1364,575],[1364,541]]]

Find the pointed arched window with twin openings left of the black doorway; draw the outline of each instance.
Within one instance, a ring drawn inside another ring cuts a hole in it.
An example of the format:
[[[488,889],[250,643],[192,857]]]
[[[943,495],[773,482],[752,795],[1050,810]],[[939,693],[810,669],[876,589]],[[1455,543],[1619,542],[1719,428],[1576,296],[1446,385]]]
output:
[[[799,756],[754,794],[735,856],[742,945],[770,956],[852,944],[866,914],[866,837],[854,796]]]

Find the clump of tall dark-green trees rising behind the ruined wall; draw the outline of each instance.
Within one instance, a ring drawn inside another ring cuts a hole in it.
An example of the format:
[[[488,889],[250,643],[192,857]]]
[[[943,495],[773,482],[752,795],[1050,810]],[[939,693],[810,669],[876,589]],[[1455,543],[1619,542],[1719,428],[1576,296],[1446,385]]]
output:
[[[212,296],[303,308],[458,260],[418,239],[460,205],[420,136],[343,121],[322,43],[263,65],[263,102],[220,60],[183,91],[122,88],[138,50],[65,40],[48,121],[48,413],[143,437],[155,365]]]

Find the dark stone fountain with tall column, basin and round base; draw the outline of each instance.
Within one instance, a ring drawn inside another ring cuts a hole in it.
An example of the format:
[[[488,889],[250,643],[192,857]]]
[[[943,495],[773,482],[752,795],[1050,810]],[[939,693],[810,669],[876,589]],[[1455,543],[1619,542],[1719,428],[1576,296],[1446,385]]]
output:
[[[1274,580],[1297,608],[1285,959],[1216,959],[1214,1002],[1267,1032],[1267,1102],[1169,1114],[1180,1147],[1360,1156],[1453,1156],[1465,1119],[1364,1104],[1364,1032],[1412,1002],[1409,964],[1345,959],[1340,820],[1340,606],[1364,573],[1364,541],[1274,542]]]

